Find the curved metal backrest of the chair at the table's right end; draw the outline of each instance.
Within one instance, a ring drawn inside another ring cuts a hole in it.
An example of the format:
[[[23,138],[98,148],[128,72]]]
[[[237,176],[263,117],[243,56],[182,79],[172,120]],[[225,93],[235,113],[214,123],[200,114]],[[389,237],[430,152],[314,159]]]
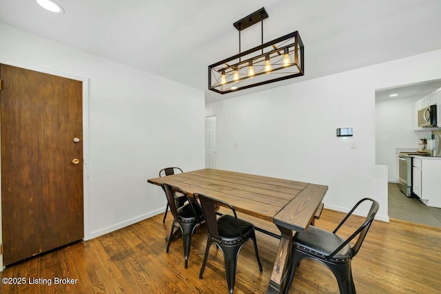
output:
[[[365,222],[363,222],[363,224],[355,232],[353,232],[352,235],[349,236],[349,238],[347,238],[343,244],[338,246],[338,248],[333,253],[331,253],[331,255],[328,255],[327,259],[333,258],[334,255],[336,255],[338,253],[338,251],[340,251],[340,249],[342,249],[344,246],[346,246],[346,244],[351,242],[353,240],[353,238],[356,238],[356,236],[358,235],[356,243],[351,247],[351,251],[352,251],[351,258],[353,258],[355,255],[357,255],[363,241],[365,240],[367,231],[369,231],[369,227],[371,227],[371,224],[373,222],[373,218],[375,218],[375,216],[378,212],[378,207],[380,207],[380,205],[378,204],[378,202],[376,202],[376,200],[373,200],[371,198],[363,198],[362,200],[358,201],[357,204],[351,209],[351,211],[349,211],[347,216],[345,216],[345,218],[343,218],[343,220],[340,222],[340,224],[338,224],[336,229],[332,232],[334,234],[337,233],[338,229],[340,229],[340,227],[342,227],[342,225],[346,222],[346,220],[349,218],[349,216],[351,216],[353,211],[355,211],[357,209],[357,207],[362,202],[365,202],[365,201],[372,202],[371,208],[369,209],[369,213],[367,213]]]

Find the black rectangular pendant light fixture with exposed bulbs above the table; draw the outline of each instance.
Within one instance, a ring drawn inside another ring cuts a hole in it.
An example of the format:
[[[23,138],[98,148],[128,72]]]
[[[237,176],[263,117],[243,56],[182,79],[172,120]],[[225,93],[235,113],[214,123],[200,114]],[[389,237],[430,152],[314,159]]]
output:
[[[268,14],[261,8],[234,23],[239,31],[239,54],[208,67],[208,89],[220,94],[283,81],[304,74],[304,46],[298,32],[263,43],[263,19]],[[240,31],[262,23],[262,45],[240,52]]]

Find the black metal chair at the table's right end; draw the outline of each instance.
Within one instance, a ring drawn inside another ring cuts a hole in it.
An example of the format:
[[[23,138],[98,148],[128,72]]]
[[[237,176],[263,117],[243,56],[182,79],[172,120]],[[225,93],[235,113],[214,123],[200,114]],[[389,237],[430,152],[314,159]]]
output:
[[[371,208],[365,222],[346,240],[336,235],[336,232],[346,220],[356,210],[362,202],[371,201]],[[367,231],[373,222],[373,218],[378,211],[378,202],[371,198],[363,198],[349,211],[347,216],[338,224],[336,229],[331,233],[318,227],[309,226],[307,231],[296,233],[294,235],[294,244],[292,246],[291,259],[289,261],[289,273],[287,275],[287,284],[284,293],[286,294],[294,280],[294,274],[298,263],[302,259],[316,260],[325,264],[332,273],[334,273],[340,293],[356,293],[356,286],[353,284],[351,260],[358,253],[362,242],[365,240]],[[351,246],[349,242],[356,238],[355,244]]]

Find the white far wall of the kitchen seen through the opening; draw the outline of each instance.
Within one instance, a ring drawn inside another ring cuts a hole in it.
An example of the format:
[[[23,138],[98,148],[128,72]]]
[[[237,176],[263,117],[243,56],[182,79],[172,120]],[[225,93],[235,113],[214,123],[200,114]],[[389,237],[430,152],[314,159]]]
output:
[[[376,101],[376,164],[387,165],[389,182],[398,182],[396,149],[418,150],[431,134],[413,127],[413,105],[423,96]]]

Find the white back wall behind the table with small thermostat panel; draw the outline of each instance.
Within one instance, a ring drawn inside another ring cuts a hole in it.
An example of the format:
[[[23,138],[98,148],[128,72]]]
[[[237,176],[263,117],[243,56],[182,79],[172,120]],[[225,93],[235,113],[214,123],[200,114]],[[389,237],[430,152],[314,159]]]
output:
[[[440,68],[437,50],[205,105],[218,118],[219,168],[329,185],[325,206],[340,211],[375,198],[389,220],[375,90],[440,78]],[[353,137],[337,138],[338,127],[353,127]]]

